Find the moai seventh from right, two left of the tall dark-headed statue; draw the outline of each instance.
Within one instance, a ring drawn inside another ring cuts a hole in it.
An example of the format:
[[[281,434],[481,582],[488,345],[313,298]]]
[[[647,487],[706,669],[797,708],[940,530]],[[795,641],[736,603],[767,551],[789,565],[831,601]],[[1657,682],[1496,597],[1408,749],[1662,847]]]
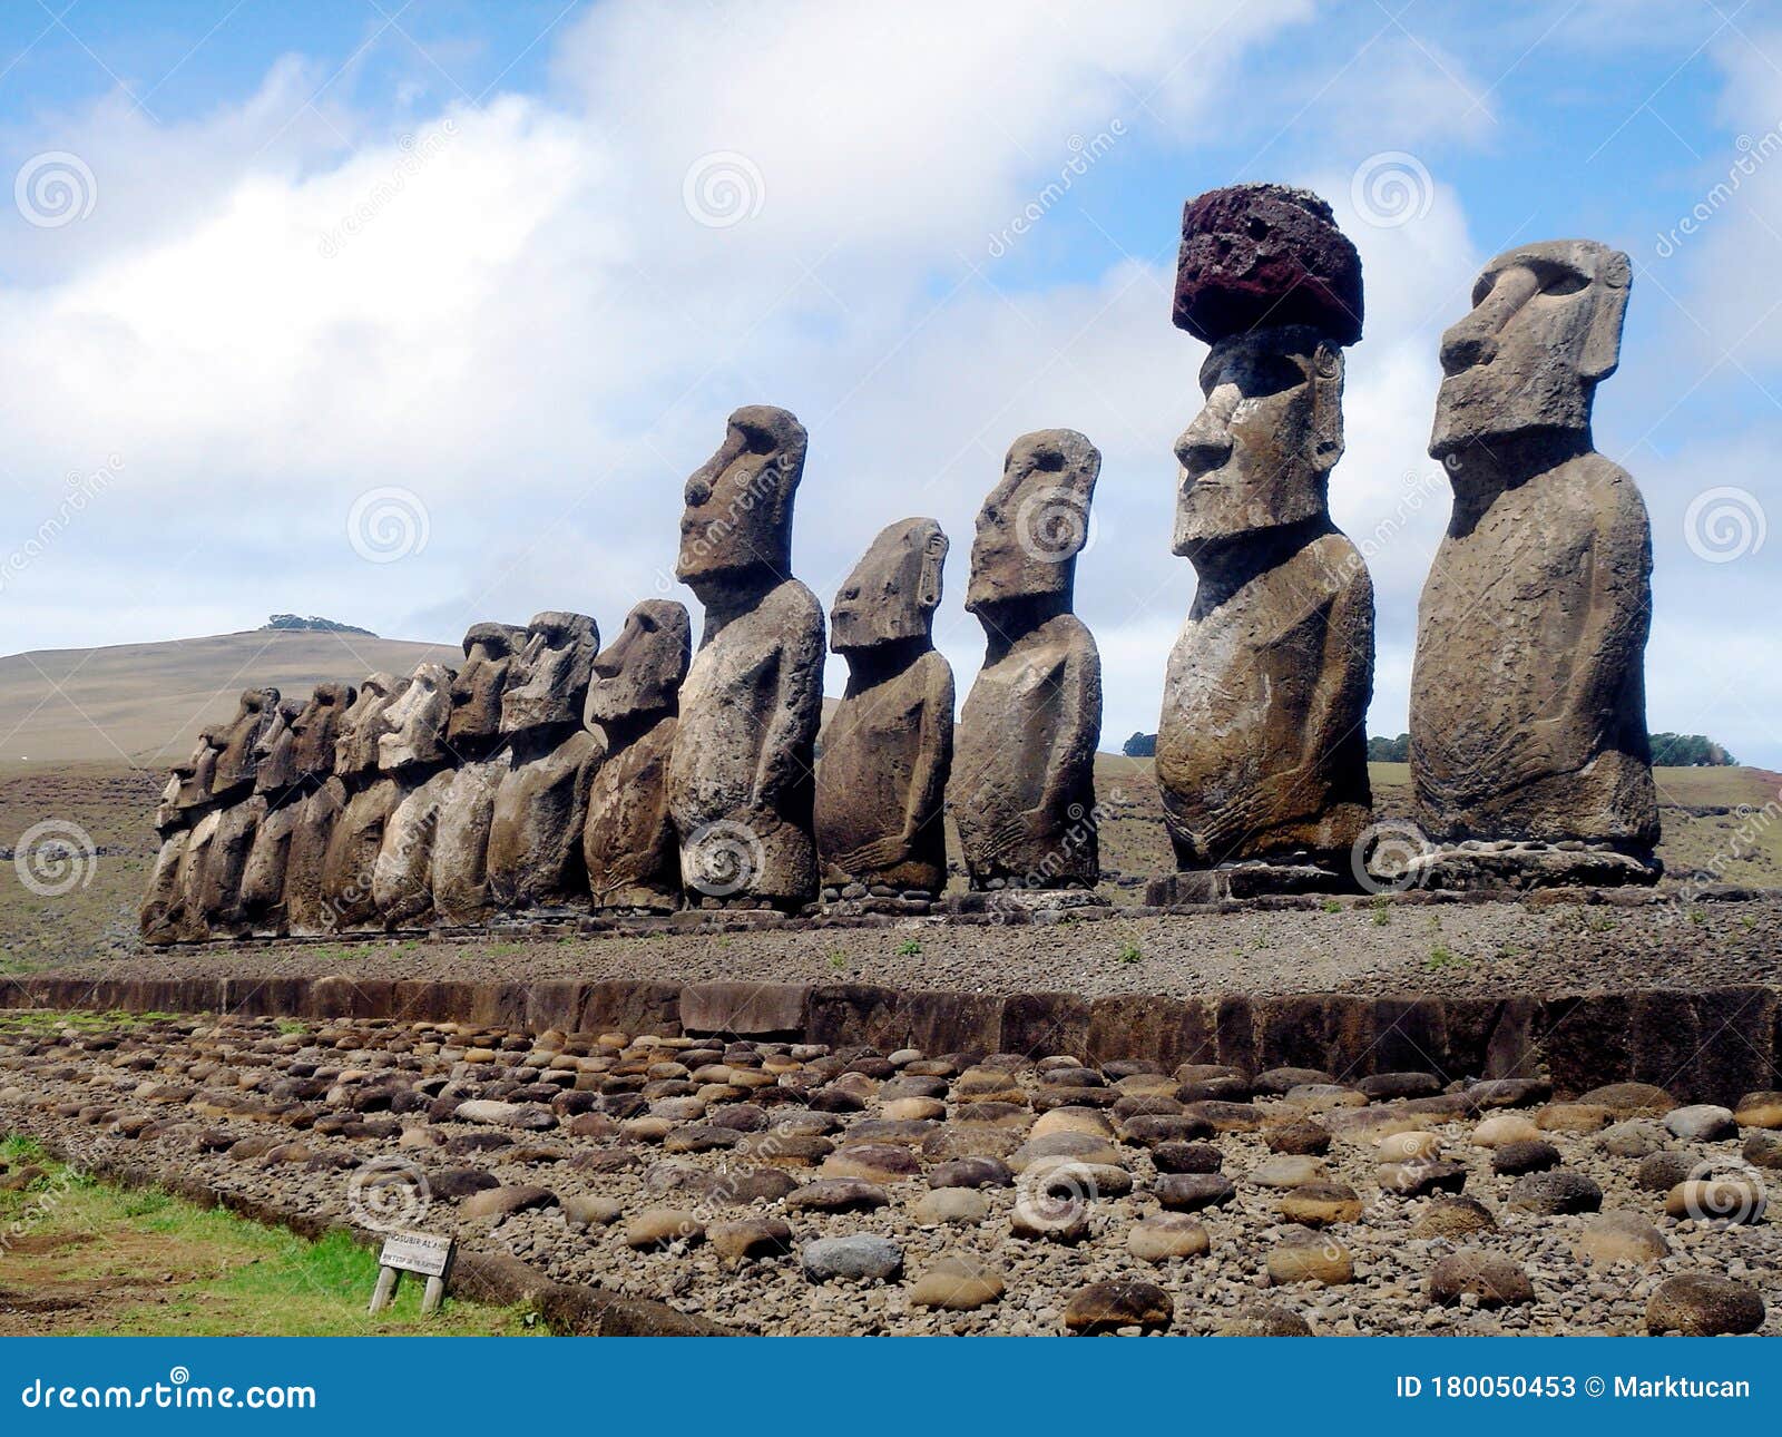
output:
[[[601,635],[586,613],[536,613],[515,681],[501,697],[501,735],[513,763],[488,824],[488,895],[499,909],[586,906],[583,829],[601,761],[583,727]]]

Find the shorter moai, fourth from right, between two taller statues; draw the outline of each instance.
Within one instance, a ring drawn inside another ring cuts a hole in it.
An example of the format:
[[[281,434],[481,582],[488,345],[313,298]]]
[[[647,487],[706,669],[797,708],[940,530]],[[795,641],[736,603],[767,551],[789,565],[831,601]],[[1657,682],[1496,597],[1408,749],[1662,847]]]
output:
[[[946,886],[953,670],[934,647],[946,547],[932,519],[891,524],[829,612],[848,686],[818,740],[825,902],[934,902]]]

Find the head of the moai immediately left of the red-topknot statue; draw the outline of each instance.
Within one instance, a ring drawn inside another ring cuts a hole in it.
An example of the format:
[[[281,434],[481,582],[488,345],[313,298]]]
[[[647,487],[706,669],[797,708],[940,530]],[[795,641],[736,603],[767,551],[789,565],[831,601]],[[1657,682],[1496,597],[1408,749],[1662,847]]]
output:
[[[1076,430],[1021,435],[978,512],[966,610],[1069,594],[1089,542],[1101,453]]]

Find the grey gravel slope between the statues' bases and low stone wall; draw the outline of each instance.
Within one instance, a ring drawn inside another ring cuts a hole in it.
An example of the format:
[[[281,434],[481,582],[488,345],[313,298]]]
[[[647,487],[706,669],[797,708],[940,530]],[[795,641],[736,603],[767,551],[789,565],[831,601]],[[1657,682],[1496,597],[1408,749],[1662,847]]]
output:
[[[1426,895],[1410,895],[1424,899]],[[351,973],[378,979],[875,982],[968,993],[1591,991],[1782,982],[1782,902],[1342,900],[1296,911],[991,927],[905,918],[650,938],[381,940],[178,948],[59,968],[87,979]]]

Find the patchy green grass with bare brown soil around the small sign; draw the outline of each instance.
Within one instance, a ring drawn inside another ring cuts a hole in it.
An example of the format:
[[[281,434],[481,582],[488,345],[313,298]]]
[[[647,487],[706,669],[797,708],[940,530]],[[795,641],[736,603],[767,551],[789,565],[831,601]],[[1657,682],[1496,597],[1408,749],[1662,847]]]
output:
[[[344,1232],[310,1243],[159,1189],[116,1187],[45,1157],[29,1137],[0,1141],[11,1168],[45,1168],[25,1191],[0,1193],[0,1228],[18,1232],[0,1264],[14,1291],[52,1298],[48,1334],[260,1337],[526,1335],[524,1307],[447,1296],[421,1316],[422,1284],[405,1278],[396,1303],[365,1305],[378,1257]],[[12,1332],[0,1314],[0,1332]]]

